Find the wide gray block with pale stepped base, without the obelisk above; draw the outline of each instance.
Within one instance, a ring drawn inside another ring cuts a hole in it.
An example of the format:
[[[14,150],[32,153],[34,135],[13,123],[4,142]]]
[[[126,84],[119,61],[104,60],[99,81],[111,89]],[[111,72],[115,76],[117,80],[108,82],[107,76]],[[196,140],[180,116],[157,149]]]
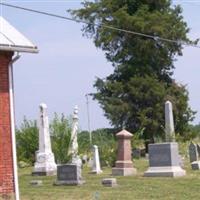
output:
[[[180,166],[180,155],[176,142],[149,145],[149,169],[147,177],[179,177],[186,172]]]

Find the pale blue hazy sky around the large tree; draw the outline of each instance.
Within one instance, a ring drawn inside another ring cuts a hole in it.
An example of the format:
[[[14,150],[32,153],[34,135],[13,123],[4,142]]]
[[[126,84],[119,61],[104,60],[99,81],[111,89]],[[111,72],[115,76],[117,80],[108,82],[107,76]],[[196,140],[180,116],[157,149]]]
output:
[[[1,0],[22,7],[70,17],[68,9],[80,8],[79,0],[12,1]],[[181,4],[183,16],[190,28],[190,38],[200,37],[200,1],[173,1]],[[79,124],[88,129],[86,97],[95,92],[96,77],[104,78],[113,72],[104,52],[97,49],[92,39],[82,36],[83,24],[1,7],[1,15],[38,46],[38,54],[22,53],[14,64],[15,115],[20,126],[24,116],[37,119],[39,104],[46,103],[50,119],[54,112],[69,116],[75,105],[79,107]],[[183,56],[175,62],[174,78],[187,85],[191,108],[198,111],[194,124],[200,122],[200,49],[185,47]],[[89,97],[91,129],[109,127],[98,103]]]

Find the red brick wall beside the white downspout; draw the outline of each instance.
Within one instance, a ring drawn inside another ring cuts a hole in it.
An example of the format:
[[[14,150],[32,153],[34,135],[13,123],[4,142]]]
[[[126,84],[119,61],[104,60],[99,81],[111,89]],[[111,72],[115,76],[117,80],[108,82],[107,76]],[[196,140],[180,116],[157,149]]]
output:
[[[0,51],[0,194],[14,192],[8,65],[12,52]]]

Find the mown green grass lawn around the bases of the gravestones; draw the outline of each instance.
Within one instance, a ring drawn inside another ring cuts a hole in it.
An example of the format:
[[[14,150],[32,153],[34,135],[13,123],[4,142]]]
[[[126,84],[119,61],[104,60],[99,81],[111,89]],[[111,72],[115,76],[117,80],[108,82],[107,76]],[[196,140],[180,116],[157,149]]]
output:
[[[31,168],[19,170],[21,200],[196,200],[200,198],[200,171],[192,171],[186,163],[187,175],[181,178],[143,177],[148,168],[147,160],[135,160],[136,176],[116,177],[119,186],[108,188],[101,185],[103,178],[111,177],[111,168],[101,175],[83,170],[86,183],[81,186],[53,186],[56,177],[33,177]],[[31,180],[43,180],[42,186],[31,186]]]

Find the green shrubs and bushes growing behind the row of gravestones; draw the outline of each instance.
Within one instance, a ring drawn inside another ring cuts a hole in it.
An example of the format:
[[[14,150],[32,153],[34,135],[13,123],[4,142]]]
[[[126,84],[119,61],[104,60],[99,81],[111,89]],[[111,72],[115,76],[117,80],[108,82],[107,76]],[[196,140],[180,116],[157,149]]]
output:
[[[55,114],[50,122],[50,134],[52,151],[55,155],[56,163],[67,163],[70,159],[68,148],[71,137],[72,121],[70,117],[63,114]],[[102,166],[113,166],[116,159],[117,140],[115,134],[118,130],[112,128],[103,128],[92,131],[92,144],[99,147],[100,160]],[[145,139],[144,129],[136,132],[132,138],[132,149],[144,149]],[[38,150],[39,129],[36,120],[24,118],[21,126],[16,128],[17,158],[29,165],[35,162],[35,152]],[[200,140],[200,125],[189,125],[189,132],[185,137],[177,134],[178,142],[185,143],[190,140]],[[91,144],[88,131],[79,131],[78,133],[79,155],[91,157]]]

